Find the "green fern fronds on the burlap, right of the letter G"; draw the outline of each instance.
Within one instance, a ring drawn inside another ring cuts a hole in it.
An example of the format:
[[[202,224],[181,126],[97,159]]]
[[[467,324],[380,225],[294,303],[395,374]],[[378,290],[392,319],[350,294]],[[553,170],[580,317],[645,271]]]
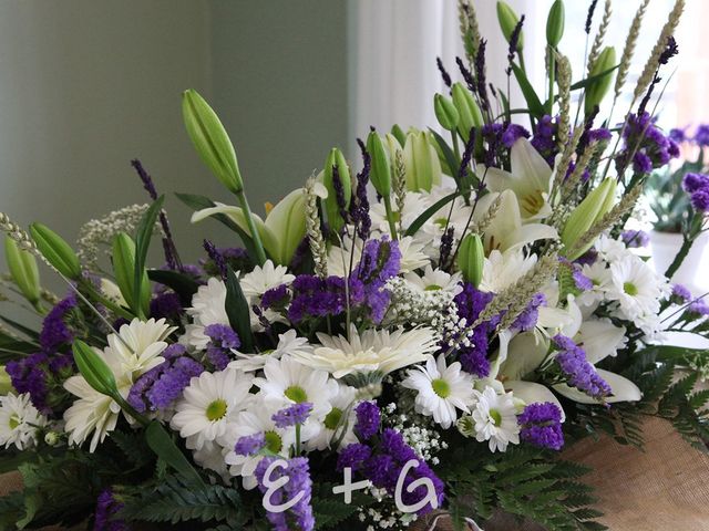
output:
[[[500,454],[470,439],[451,446],[455,449],[441,458],[440,473],[458,529],[465,517],[487,520],[497,509],[551,531],[605,529],[594,521],[600,513],[589,507],[592,488],[578,479],[586,467],[526,446]]]

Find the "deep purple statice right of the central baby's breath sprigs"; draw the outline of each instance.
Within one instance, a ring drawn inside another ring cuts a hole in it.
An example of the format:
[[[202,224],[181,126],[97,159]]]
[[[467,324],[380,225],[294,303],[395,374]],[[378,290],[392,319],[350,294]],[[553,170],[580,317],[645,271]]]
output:
[[[480,291],[473,284],[464,283],[463,291],[455,295],[453,300],[458,308],[458,316],[465,319],[469,324],[474,323],[493,298],[493,293]],[[495,316],[475,326],[471,337],[472,345],[459,350],[459,358],[463,371],[481,378],[490,374],[490,360],[487,360],[490,334],[495,330],[499,322],[500,316]]]

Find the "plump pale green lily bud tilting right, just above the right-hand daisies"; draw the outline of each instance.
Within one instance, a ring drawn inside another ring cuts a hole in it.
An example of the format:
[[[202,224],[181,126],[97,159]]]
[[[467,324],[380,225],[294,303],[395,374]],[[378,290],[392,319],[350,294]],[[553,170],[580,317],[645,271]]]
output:
[[[576,242],[613,208],[616,187],[616,179],[606,177],[571,214],[562,230],[562,243],[564,243],[566,258],[575,260],[590,249],[593,241],[580,249],[575,249]]]

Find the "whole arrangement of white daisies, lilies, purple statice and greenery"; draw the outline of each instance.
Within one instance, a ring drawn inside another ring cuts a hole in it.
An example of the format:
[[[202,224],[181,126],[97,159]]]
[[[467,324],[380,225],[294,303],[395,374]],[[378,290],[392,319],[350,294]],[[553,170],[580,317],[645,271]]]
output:
[[[197,264],[181,260],[137,160],[150,204],[90,221],[78,251],[0,215],[2,296],[42,316],[39,331],[0,317],[0,466],[23,480],[0,498],[0,529],[404,529],[440,511],[463,529],[497,510],[603,529],[586,469],[559,450],[600,433],[641,446],[644,416],[698,447],[708,435],[709,394],[693,391],[706,352],[656,342],[688,323],[706,333],[707,305],[621,236],[650,173],[678,153],[650,102],[682,0],[630,110],[598,113],[624,90],[647,3],[616,61],[605,0],[573,82],[554,2],[543,97],[524,17],[499,2],[507,77],[526,100],[516,110],[486,83],[486,42],[461,1],[462,81],[439,61],[450,92],[433,102],[445,134],[372,131],[361,163],[332,149],[265,217],[217,115],[186,91],[186,131],[237,205],[179,198],[194,222],[243,242],[205,239]],[[165,263],[150,268],[155,239]],[[41,288],[38,262],[68,295]]]

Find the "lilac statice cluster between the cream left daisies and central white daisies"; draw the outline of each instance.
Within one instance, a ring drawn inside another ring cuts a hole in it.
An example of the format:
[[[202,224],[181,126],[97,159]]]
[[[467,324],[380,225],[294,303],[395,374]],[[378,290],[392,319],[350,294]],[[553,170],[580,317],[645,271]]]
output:
[[[165,361],[141,376],[129,392],[127,402],[138,413],[167,408],[179,398],[189,381],[204,371],[183,345],[169,345],[162,356]]]

